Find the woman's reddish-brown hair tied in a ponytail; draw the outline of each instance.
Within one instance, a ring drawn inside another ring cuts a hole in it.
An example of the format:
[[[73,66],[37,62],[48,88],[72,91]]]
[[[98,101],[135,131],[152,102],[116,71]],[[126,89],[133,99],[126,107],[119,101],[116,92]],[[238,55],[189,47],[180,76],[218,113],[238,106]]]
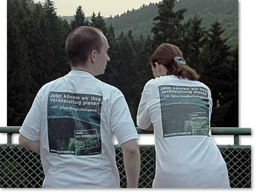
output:
[[[190,68],[187,64],[182,65],[174,61],[174,58],[177,56],[183,58],[182,52],[177,46],[162,44],[154,51],[150,62],[154,67],[156,67],[156,62],[164,65],[168,69],[167,75],[173,74],[178,78],[182,77],[189,80],[198,80],[200,76],[195,70]]]

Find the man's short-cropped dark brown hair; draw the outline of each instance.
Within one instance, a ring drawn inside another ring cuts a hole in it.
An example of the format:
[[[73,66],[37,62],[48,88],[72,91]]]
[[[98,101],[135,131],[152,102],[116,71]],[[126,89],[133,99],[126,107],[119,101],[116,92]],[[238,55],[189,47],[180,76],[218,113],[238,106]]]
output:
[[[84,65],[92,50],[100,53],[103,45],[100,33],[97,28],[81,26],[68,35],[65,47],[71,66]]]

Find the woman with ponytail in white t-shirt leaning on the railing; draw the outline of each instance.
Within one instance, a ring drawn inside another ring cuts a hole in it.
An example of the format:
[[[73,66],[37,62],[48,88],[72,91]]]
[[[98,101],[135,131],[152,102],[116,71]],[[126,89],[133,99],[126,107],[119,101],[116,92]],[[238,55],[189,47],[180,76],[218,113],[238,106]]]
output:
[[[174,45],[160,45],[150,62],[155,79],[142,92],[137,125],[154,129],[153,187],[229,187],[226,164],[211,137],[209,88]]]

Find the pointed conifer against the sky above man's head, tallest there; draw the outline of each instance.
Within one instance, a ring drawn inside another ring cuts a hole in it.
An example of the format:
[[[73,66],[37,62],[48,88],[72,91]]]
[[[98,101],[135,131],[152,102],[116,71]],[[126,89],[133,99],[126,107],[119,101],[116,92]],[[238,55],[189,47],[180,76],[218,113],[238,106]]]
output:
[[[72,30],[80,27],[80,26],[89,26],[88,20],[85,21],[84,12],[82,10],[82,6],[78,6],[76,8],[76,14],[74,15],[74,18],[70,22],[70,26]]]

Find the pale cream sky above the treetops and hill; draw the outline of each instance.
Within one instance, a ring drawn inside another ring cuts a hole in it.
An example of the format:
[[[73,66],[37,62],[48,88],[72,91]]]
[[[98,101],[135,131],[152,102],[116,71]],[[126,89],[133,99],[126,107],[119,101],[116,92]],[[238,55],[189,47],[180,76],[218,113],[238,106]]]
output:
[[[59,16],[73,16],[76,8],[82,6],[85,16],[91,16],[94,12],[109,18],[110,15],[123,14],[127,10],[133,8],[139,9],[143,4],[159,3],[162,0],[54,0],[57,8],[57,15]],[[35,2],[44,2],[42,0],[35,0]]]

